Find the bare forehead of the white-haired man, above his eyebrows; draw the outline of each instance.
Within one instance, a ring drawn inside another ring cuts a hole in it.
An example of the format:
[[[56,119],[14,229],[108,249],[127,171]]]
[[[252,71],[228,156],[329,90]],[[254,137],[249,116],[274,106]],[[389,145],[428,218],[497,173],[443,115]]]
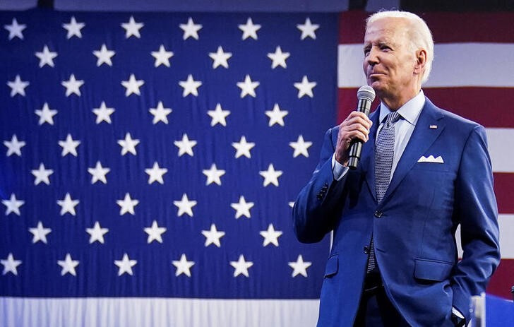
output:
[[[380,18],[369,24],[364,43],[402,42],[407,38],[408,21],[405,18]]]

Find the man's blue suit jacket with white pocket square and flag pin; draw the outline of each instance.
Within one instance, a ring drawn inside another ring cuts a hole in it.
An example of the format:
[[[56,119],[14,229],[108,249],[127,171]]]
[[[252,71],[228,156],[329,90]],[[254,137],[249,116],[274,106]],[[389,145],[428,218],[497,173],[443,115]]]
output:
[[[359,166],[339,182],[331,164],[339,129],[327,131],[321,160],[294,205],[300,242],[318,242],[334,232],[318,326],[353,326],[366,273],[364,247],[372,233],[386,293],[412,326],[450,326],[452,306],[469,321],[470,298],[484,292],[500,256],[485,130],[426,99],[378,205],[378,110],[370,119]],[[441,155],[444,162],[418,162],[423,155]],[[462,261],[455,245],[459,224]]]

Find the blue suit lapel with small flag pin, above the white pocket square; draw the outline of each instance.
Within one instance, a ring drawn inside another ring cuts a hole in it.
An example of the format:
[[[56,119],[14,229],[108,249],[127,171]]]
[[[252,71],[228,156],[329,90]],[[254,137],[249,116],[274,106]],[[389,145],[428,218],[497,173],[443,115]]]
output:
[[[436,141],[436,138],[441,134],[445,128],[444,120],[442,118],[443,114],[441,114],[437,107],[434,106],[428,98],[426,98],[422,112],[419,114],[416,127],[414,127],[414,131],[410,136],[407,147],[403,151],[402,157],[398,162],[395,173],[393,174],[393,179],[391,179],[382,203],[385,203],[388,200],[390,194],[395,191],[407,172],[409,172],[417,160],[419,160],[419,157],[426,153],[426,150],[428,150],[430,145],[432,145],[432,143]],[[431,125],[435,125],[437,128],[431,129]]]

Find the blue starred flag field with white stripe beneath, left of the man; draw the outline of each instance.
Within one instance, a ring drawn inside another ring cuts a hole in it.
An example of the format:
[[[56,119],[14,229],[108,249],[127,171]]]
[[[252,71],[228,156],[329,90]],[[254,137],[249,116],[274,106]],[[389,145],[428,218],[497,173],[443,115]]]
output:
[[[299,244],[290,215],[335,121],[336,14],[0,25],[0,323],[55,326],[79,303],[73,325],[286,326],[317,309],[301,299],[318,298],[329,241]],[[106,307],[126,315],[91,318]]]

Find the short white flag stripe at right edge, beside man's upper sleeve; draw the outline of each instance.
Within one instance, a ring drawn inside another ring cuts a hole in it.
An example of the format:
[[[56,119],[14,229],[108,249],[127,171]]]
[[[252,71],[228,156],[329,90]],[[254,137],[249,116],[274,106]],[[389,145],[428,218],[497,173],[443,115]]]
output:
[[[514,129],[486,129],[494,172],[514,172]]]

